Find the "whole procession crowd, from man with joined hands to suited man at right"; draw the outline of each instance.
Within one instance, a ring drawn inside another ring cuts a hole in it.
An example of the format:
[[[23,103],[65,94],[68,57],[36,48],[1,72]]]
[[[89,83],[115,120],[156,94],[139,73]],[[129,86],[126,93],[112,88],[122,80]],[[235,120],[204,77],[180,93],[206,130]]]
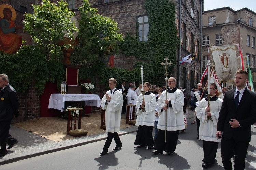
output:
[[[250,142],[251,125],[256,122],[256,94],[245,87],[248,73],[238,70],[234,78],[236,88],[226,91],[224,99],[216,96],[218,89],[214,83],[210,84],[209,93],[202,84],[197,84],[189,96],[189,109],[195,110],[197,124],[197,138],[203,141],[203,168],[215,163],[218,143],[221,142],[222,162],[225,169],[232,169],[231,158],[235,154],[234,169],[245,168],[245,158]],[[136,126],[138,131],[134,141],[137,148],[154,149],[155,155],[175,154],[179,131],[186,129],[187,99],[184,89],[176,87],[176,79],[168,79],[168,87],[157,87],[149,82],[139,84],[131,82],[126,89],[122,86],[115,88],[116,80],[109,80],[110,90],[102,98],[102,109],[106,109],[106,130],[108,137],[101,155],[108,153],[108,147],[115,139],[117,150],[122,143],[117,134],[120,130],[120,115],[122,107],[134,104],[136,107]],[[142,89],[143,88],[143,89]],[[111,91],[114,91],[111,93]],[[126,96],[126,91],[133,95]],[[143,93],[142,93],[143,92]],[[123,96],[123,97],[122,97]],[[125,102],[127,100],[127,102]],[[132,101],[134,100],[134,101]],[[127,113],[126,113],[127,114]],[[153,127],[155,129],[152,136]]]

